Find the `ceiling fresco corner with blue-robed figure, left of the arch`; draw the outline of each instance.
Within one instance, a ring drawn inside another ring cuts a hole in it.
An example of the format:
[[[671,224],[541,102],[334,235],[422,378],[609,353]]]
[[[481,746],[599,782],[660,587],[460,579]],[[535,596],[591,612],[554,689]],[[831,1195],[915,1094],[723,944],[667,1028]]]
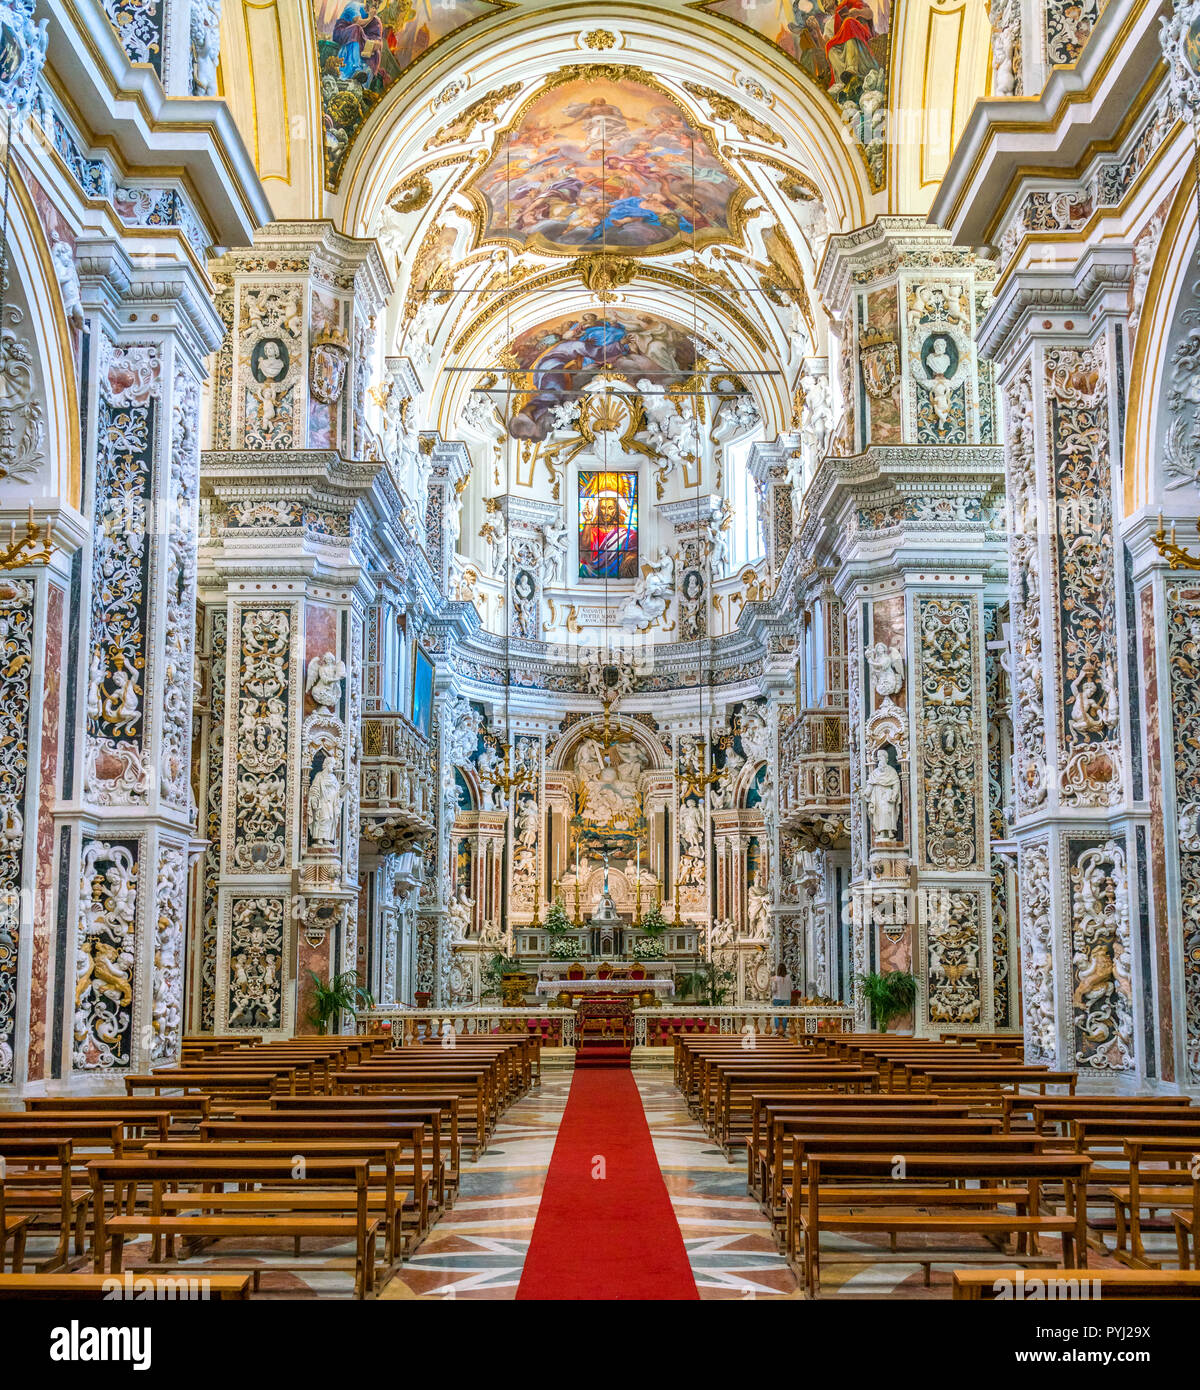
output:
[[[313,0],[330,192],[355,136],[405,70],[455,31],[508,8],[505,0]]]

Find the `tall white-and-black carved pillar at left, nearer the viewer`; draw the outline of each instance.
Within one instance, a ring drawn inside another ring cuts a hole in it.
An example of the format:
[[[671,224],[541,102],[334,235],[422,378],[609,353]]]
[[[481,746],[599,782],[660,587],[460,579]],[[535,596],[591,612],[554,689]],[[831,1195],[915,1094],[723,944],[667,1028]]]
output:
[[[95,530],[56,809],[74,967],[54,1065],[145,1070],[178,1056],[184,1029],[200,379],[220,321],[190,261],[143,268],[104,240],[76,261]]]

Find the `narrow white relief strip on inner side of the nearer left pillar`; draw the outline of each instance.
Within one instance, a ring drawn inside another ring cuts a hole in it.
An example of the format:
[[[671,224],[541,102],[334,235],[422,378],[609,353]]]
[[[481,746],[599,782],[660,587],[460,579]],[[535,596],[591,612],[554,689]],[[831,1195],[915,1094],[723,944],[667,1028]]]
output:
[[[163,666],[160,790],[172,806],[188,806],[192,744],[192,659],[196,642],[196,492],[200,470],[200,391],[175,377],[167,517],[167,621]]]

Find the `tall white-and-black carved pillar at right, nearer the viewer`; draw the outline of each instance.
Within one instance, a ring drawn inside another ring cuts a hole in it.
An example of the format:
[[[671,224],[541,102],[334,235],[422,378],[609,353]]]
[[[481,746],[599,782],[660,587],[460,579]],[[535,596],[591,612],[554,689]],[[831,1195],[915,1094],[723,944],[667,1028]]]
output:
[[[1053,286],[1016,268],[986,348],[1007,427],[1026,1056],[1139,1077],[1149,817],[1129,560],[1114,541],[1130,275],[1119,247],[1087,250]]]

